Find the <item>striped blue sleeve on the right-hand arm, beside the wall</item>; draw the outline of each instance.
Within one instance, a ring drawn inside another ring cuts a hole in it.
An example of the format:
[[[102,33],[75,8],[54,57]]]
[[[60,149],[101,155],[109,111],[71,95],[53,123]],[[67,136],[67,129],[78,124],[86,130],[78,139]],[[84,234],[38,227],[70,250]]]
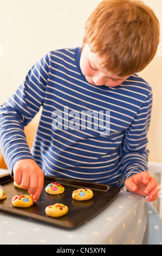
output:
[[[122,144],[121,168],[125,180],[139,172],[147,171],[147,131],[150,125],[152,92],[140,107],[131,126],[126,130]]]

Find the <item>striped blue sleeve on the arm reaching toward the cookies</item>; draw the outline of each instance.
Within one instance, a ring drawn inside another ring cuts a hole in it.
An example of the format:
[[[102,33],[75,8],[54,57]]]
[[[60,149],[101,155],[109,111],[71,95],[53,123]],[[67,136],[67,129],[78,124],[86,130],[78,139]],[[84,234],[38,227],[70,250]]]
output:
[[[33,159],[24,126],[33,119],[42,105],[48,69],[47,54],[31,68],[21,86],[0,108],[1,149],[10,173],[16,161]]]

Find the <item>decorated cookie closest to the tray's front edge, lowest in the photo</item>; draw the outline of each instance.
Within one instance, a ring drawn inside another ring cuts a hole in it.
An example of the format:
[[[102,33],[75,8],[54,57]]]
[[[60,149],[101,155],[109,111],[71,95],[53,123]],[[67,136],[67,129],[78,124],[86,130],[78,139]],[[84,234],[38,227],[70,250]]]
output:
[[[49,205],[46,207],[45,212],[48,216],[51,217],[61,217],[67,214],[68,206],[60,203]]]

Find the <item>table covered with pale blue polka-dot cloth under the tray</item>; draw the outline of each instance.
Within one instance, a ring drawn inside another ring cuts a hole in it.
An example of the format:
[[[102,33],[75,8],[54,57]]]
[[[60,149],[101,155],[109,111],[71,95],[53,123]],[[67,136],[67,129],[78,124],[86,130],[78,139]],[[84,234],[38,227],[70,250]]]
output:
[[[8,170],[0,169],[0,175]],[[162,245],[162,221],[146,199],[128,191],[75,229],[0,211],[1,245]]]

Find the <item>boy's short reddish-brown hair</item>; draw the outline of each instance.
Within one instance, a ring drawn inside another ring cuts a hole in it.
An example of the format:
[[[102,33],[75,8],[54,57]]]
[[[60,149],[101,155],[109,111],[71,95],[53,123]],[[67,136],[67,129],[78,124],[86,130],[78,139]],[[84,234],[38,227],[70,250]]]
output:
[[[138,0],[103,0],[85,24],[83,46],[104,56],[105,70],[118,76],[143,70],[159,44],[159,22]]]

